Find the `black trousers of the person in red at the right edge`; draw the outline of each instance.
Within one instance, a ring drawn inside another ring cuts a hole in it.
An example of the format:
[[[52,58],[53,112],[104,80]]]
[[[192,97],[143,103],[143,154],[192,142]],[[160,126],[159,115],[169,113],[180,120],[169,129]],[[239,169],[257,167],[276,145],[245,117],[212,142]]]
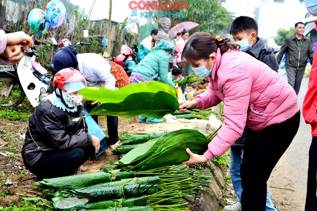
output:
[[[317,210],[317,137],[313,137],[309,148],[308,174],[307,174],[307,194],[305,211]]]

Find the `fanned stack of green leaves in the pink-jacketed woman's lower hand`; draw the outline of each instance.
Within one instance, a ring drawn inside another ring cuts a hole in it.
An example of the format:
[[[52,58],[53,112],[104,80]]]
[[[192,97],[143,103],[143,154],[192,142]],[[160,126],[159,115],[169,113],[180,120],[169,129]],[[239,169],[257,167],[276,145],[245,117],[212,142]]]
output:
[[[186,148],[193,153],[203,154],[208,149],[209,142],[197,130],[176,130],[139,144],[114,164],[126,171],[143,171],[179,164],[190,158]]]

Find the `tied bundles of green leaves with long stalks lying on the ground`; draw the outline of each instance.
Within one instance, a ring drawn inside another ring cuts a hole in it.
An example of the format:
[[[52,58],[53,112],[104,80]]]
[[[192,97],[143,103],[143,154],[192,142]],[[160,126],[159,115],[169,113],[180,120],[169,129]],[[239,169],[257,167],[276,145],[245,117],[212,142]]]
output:
[[[111,171],[103,167],[106,172]],[[118,174],[120,171],[113,170]],[[97,172],[100,173],[100,172]],[[188,165],[178,165],[154,169],[152,171],[125,172],[133,178],[121,179],[113,182],[95,183],[88,180],[90,174],[58,177],[45,179],[42,183],[36,183],[40,188],[60,187],[55,193],[52,201],[55,208],[58,203],[67,198],[87,198],[89,202],[81,204],[86,210],[102,210],[107,208],[118,208],[109,210],[188,210],[183,208],[187,202],[182,197],[191,197],[195,191],[206,192],[211,179],[210,171],[193,171]],[[147,175],[147,177],[134,177],[136,175]],[[159,176],[156,176],[159,175]],[[96,175],[95,175],[96,176]],[[118,177],[113,177],[117,179]],[[74,181],[78,182],[76,187],[71,187]],[[45,185],[43,185],[43,183]],[[91,183],[95,183],[91,185]],[[145,207],[146,206],[146,207]],[[121,209],[124,207],[124,209]],[[142,209],[144,208],[144,209]]]

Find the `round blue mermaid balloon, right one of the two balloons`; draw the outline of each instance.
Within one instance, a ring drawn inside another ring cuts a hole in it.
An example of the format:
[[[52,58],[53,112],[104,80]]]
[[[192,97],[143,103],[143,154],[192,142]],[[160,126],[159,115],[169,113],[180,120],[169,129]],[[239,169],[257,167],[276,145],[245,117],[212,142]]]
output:
[[[66,7],[58,0],[50,1],[45,7],[45,16],[47,22],[55,31],[55,28],[66,20]]]

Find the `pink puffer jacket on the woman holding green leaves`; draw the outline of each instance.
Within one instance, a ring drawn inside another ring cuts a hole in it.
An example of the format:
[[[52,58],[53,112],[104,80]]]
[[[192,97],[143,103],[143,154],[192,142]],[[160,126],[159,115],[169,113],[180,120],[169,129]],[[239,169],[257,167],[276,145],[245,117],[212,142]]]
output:
[[[247,53],[218,48],[209,89],[196,96],[197,108],[224,102],[225,123],[209,143],[206,158],[223,155],[241,137],[245,125],[252,130],[281,123],[299,111],[294,89],[281,76]]]

